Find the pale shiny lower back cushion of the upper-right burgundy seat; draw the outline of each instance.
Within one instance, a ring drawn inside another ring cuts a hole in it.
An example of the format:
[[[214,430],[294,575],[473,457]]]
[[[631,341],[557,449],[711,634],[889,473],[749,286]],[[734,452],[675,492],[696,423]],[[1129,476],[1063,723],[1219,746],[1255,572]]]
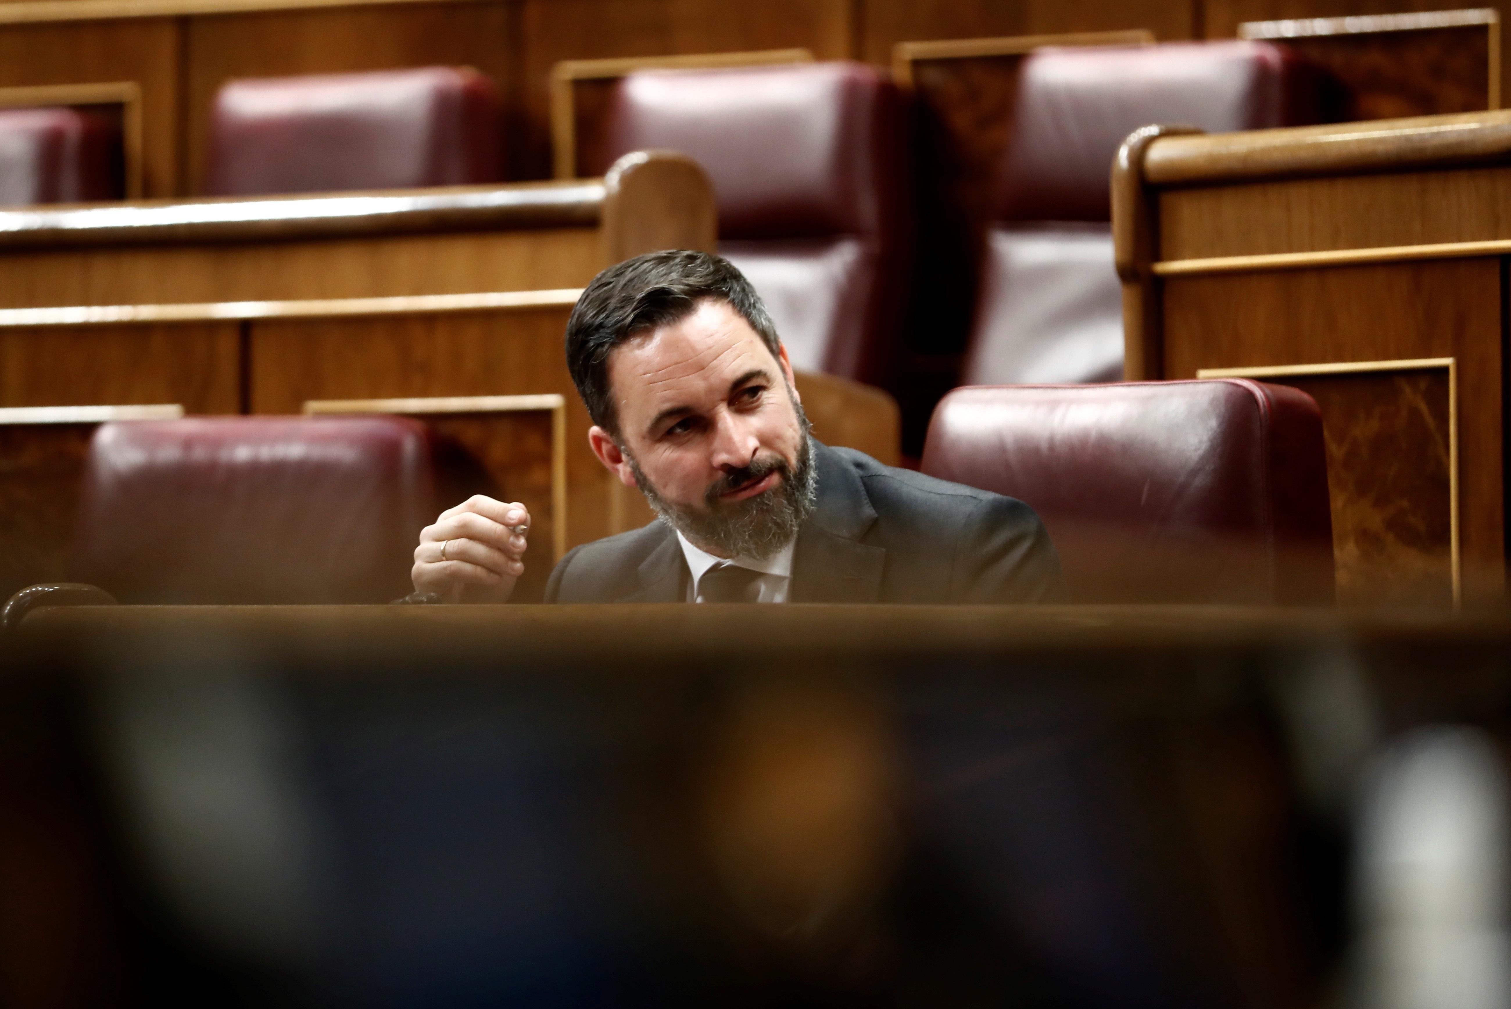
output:
[[[975,329],[966,385],[1120,381],[1123,284],[1111,228],[990,228]]]

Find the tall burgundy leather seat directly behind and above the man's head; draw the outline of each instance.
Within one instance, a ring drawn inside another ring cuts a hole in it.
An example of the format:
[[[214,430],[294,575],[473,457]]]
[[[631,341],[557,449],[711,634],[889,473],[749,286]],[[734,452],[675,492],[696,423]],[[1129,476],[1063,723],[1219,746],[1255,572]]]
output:
[[[908,245],[891,82],[843,62],[630,74],[607,157],[654,148],[707,169],[719,252],[760,292],[793,367],[885,385]]]

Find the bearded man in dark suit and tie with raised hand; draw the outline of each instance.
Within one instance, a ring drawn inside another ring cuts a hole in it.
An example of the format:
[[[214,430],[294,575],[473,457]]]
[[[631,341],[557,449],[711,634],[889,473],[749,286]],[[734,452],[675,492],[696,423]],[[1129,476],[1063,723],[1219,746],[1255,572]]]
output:
[[[577,547],[547,603],[1035,603],[1059,559],[1021,501],[885,467],[808,432],[749,281],[703,252],[612,266],[567,323],[594,453],[659,518]],[[508,598],[523,505],[474,497],[414,551],[414,600]]]

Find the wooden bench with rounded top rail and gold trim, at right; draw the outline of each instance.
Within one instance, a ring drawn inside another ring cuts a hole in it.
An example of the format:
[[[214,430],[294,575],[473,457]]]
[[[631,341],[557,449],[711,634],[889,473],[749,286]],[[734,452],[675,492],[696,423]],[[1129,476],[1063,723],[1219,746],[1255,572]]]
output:
[[[1339,600],[1505,585],[1511,113],[1129,137],[1130,379],[1253,376],[1322,408]]]

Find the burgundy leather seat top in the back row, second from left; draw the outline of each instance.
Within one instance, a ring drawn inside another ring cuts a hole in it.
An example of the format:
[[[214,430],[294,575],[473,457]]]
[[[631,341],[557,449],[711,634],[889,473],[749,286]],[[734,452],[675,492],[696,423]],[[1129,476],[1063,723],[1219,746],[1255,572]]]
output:
[[[493,82],[473,69],[233,80],[210,124],[213,195],[462,186],[503,178]]]

